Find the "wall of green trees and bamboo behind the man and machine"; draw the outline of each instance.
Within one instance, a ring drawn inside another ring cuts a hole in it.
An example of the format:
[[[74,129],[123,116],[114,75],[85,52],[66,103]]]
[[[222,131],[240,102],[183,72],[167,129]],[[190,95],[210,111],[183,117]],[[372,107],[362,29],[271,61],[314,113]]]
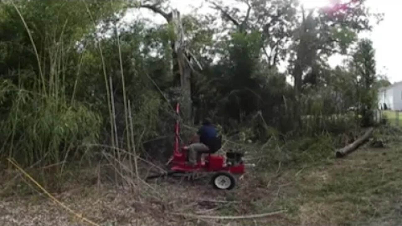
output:
[[[169,14],[166,1],[143,3]],[[244,134],[242,142],[312,136],[298,140],[300,146],[288,142],[280,156],[322,158],[330,150],[324,144],[334,143],[328,134],[355,127],[349,107],[376,106],[372,91],[379,82],[372,78],[375,70],[362,64],[372,58],[367,42],[359,45],[353,67],[332,69],[327,63],[335,52],[350,53],[357,33],[369,29],[369,14],[359,4],[351,5],[354,13],[333,14],[302,12],[294,0],[249,3],[244,15],[238,6],[212,3],[223,25],[215,13],[182,16],[188,57],[203,68],[191,73],[194,121],[210,117],[222,134]],[[2,157],[26,165],[80,157],[82,145],[113,144],[114,118],[119,147],[126,147],[127,100],[138,149],[171,133],[170,106],[180,94],[172,24],[142,18],[126,24],[123,1],[14,4],[0,3]],[[283,63],[288,72],[279,72]],[[107,104],[111,97],[115,117]]]

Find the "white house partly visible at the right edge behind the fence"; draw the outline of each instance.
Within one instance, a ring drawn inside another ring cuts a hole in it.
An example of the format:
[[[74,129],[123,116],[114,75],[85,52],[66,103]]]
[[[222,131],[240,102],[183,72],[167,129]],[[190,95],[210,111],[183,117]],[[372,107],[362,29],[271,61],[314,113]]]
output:
[[[379,109],[402,111],[402,82],[396,82],[378,92]]]

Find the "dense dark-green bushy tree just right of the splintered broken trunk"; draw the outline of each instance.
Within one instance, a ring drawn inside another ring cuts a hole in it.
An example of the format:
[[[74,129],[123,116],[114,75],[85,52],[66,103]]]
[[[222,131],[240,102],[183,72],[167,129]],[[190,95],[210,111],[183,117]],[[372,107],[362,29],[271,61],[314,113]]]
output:
[[[213,109],[214,105],[222,106],[219,113],[226,115],[224,124],[228,125],[228,119],[244,121],[247,117],[258,111],[258,105],[261,102],[259,97],[261,93],[260,84],[267,82],[267,74],[259,74],[259,53],[260,53],[261,35],[258,32],[244,34],[232,33],[231,39],[225,41],[222,47],[222,54],[226,57],[218,65],[206,70],[211,73],[203,83],[213,83],[218,88],[214,94],[210,86],[205,86],[197,90],[196,95],[200,95],[199,100],[210,101],[207,104],[208,109]],[[199,84],[201,84],[200,82]],[[209,96],[213,95],[212,99]],[[202,105],[201,105],[202,106]],[[205,105],[204,105],[205,106]],[[205,114],[205,113],[204,113]]]

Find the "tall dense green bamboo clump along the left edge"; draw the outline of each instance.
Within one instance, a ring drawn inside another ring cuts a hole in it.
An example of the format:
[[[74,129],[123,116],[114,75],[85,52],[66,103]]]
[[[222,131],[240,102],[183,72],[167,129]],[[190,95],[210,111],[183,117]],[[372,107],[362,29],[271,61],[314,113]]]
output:
[[[74,65],[79,60],[76,42],[91,31],[92,19],[96,22],[112,11],[100,2],[15,4],[23,18],[10,3],[0,3],[4,12],[0,18],[1,157],[15,158],[25,166],[59,164],[100,137],[100,115],[80,102],[70,105],[69,94],[80,72],[80,66]],[[87,7],[95,11],[92,18]],[[38,55],[33,54],[33,44]]]

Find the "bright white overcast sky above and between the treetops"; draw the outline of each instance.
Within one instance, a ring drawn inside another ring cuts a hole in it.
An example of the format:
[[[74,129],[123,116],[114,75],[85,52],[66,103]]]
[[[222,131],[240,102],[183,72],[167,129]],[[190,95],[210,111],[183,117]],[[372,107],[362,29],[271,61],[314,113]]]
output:
[[[194,7],[199,8],[199,13],[211,12],[204,0],[170,0],[172,8],[177,8],[183,14],[190,13]],[[327,4],[330,0],[300,0],[306,8],[319,7]],[[228,4],[233,4],[234,0],[224,0]],[[376,50],[377,72],[385,74],[391,82],[402,81],[402,60],[398,53],[402,52],[401,41],[401,14],[402,0],[367,0],[366,5],[373,12],[384,13],[384,20],[379,25],[375,25],[371,33],[362,34],[361,37],[369,37]],[[146,16],[144,10],[137,16]],[[146,15],[148,14],[148,15]],[[133,14],[131,14],[133,15]],[[155,18],[152,18],[155,20]],[[156,21],[163,23],[162,17],[157,17]],[[335,66],[341,63],[342,58],[333,57],[330,64]]]

